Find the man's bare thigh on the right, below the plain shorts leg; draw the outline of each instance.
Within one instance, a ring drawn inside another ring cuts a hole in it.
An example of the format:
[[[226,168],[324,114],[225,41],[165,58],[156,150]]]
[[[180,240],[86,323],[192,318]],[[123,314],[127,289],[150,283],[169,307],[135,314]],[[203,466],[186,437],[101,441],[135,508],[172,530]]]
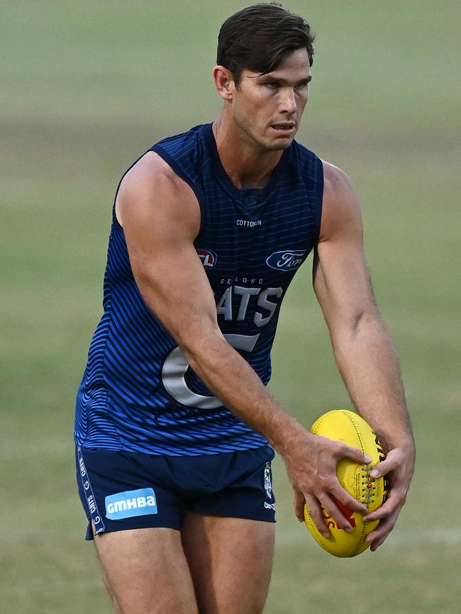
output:
[[[260,614],[269,589],[274,523],[189,512],[182,543],[200,614]]]

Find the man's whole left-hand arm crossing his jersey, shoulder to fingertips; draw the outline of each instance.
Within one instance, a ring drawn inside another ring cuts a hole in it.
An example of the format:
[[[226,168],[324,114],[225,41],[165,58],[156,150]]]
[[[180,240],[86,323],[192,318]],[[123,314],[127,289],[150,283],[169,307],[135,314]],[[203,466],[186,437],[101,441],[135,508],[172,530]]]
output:
[[[343,443],[311,435],[284,411],[224,339],[213,293],[194,249],[200,213],[189,186],[150,152],[123,180],[117,216],[140,291],[194,372],[224,405],[282,454],[303,503],[304,498],[320,501],[340,526],[350,530],[332,496],[358,512],[365,512],[365,506],[340,487],[335,467],[341,457],[360,463],[366,462],[365,457]],[[328,535],[318,504],[311,511],[319,530]],[[297,515],[301,520],[302,506]]]

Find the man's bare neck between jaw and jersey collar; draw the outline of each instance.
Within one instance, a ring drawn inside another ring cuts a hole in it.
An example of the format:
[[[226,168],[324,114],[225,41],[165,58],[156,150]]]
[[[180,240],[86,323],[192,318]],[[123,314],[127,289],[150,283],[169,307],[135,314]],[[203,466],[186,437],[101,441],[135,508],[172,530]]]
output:
[[[219,159],[236,188],[264,188],[282,157],[282,150],[267,151],[241,133],[223,114],[213,122]]]

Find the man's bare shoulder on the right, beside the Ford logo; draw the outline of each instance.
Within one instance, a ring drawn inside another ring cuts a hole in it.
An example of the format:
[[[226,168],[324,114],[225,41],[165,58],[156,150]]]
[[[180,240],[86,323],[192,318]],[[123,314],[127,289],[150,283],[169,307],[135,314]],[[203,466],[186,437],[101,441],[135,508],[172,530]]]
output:
[[[362,216],[354,186],[347,174],[330,162],[323,163],[323,211],[320,241],[340,233],[362,235]]]

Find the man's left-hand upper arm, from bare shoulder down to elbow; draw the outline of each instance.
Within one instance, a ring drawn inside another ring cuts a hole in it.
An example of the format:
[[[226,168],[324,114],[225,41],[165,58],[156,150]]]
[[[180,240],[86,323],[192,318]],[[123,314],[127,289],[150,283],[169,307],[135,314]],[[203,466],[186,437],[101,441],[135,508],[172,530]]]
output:
[[[199,203],[186,184],[148,163],[119,193],[135,281],[155,316],[179,345],[216,330],[216,306],[194,248]]]

